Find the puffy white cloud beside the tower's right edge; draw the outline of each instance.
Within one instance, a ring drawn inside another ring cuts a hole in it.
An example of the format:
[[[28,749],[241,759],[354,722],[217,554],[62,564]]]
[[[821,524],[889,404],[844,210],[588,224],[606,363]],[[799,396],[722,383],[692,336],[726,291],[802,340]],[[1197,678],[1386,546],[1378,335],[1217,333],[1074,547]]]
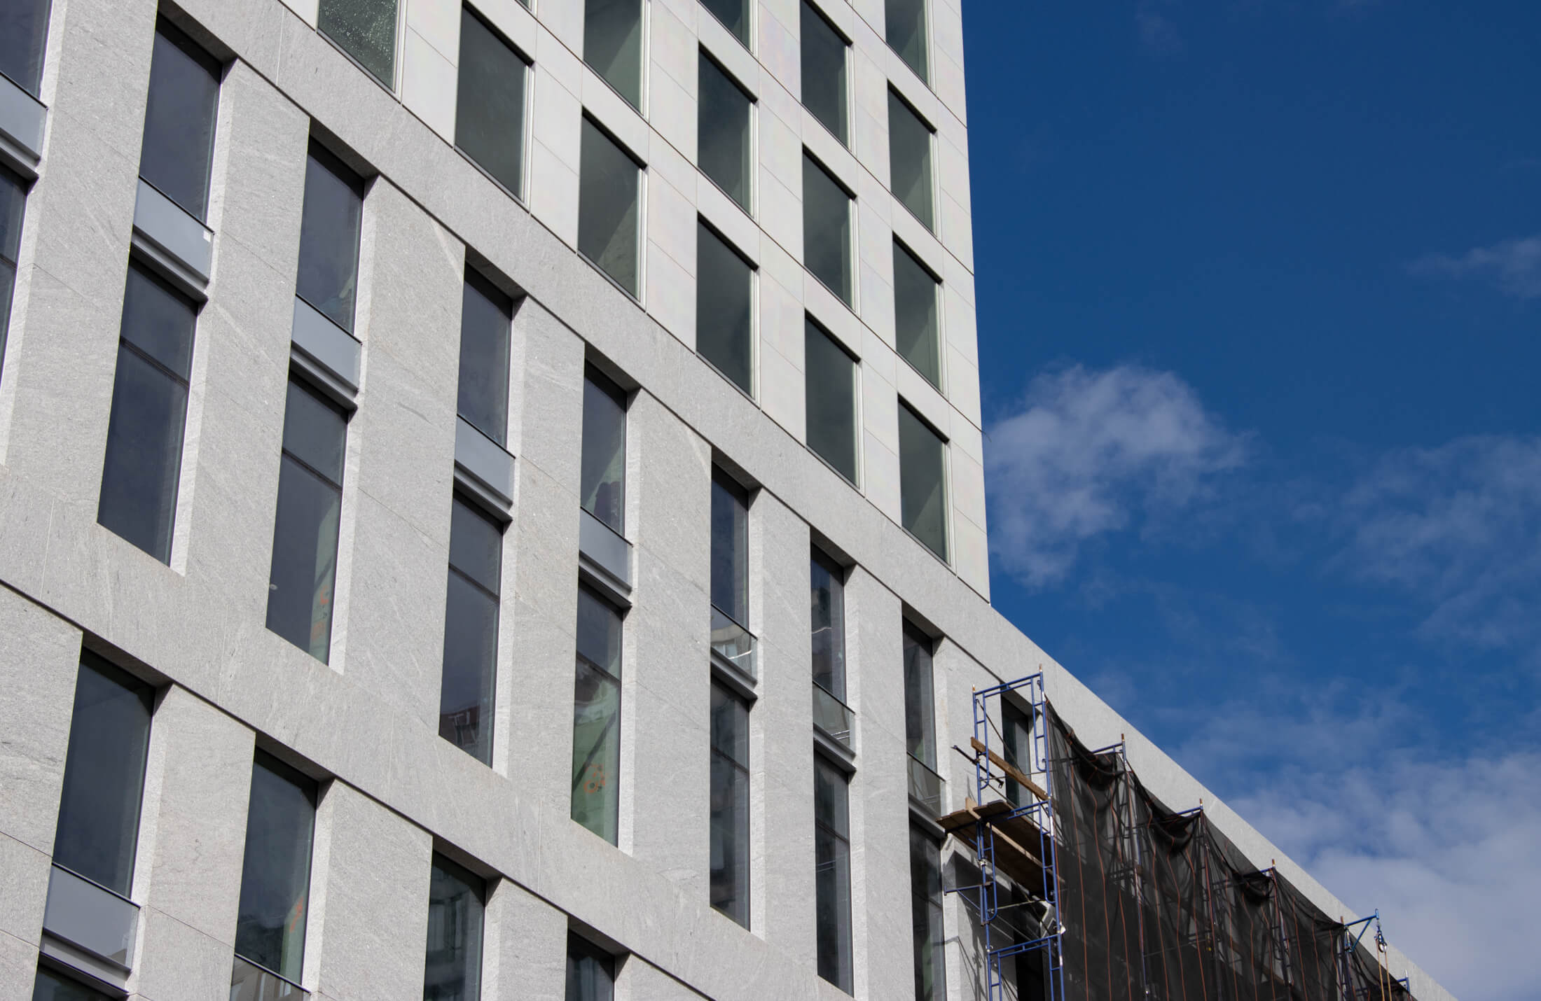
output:
[[[1137,511],[1190,504],[1245,442],[1173,373],[1120,365],[1037,376],[988,428],[991,551],[1028,587],[1059,582],[1083,542]]]

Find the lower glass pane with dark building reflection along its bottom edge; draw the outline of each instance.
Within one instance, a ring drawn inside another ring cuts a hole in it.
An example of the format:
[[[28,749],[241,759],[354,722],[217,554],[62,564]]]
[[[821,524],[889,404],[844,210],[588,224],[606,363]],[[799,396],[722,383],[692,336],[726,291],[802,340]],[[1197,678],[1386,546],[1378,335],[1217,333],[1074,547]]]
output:
[[[484,764],[492,762],[496,668],[498,601],[452,570],[444,610],[439,736]]]

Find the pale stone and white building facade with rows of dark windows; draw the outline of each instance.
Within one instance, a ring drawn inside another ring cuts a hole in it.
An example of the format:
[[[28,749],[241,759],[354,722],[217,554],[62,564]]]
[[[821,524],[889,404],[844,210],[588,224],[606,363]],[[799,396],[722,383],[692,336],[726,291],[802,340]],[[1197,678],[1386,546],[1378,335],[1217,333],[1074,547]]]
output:
[[[971,690],[1130,732],[989,607],[957,0],[532,3],[3,0],[0,999],[983,996]]]

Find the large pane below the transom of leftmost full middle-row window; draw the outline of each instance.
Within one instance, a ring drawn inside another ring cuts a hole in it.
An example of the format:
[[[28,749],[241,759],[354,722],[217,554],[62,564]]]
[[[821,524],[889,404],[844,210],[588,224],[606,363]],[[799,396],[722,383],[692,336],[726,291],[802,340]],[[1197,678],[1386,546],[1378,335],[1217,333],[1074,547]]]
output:
[[[160,562],[171,559],[186,402],[183,383],[119,345],[97,522]]]

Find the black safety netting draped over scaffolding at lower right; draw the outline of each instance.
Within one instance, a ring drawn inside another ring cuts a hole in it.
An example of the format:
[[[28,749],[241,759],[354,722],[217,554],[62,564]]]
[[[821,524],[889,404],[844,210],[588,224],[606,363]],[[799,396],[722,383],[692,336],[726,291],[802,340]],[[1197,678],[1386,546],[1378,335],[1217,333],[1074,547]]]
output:
[[[1376,929],[1324,915],[1202,812],[1156,799],[1049,708],[1066,1001],[1410,1001]]]

